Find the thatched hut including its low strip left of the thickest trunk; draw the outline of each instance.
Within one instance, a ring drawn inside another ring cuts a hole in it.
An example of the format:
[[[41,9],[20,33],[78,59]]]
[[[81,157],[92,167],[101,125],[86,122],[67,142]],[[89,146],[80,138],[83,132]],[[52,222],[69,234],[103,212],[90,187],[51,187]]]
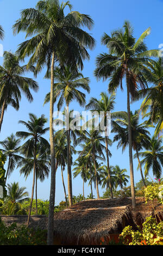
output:
[[[146,205],[143,197],[136,197],[134,211],[131,198],[84,200],[54,215],[54,245],[100,245],[103,239],[117,242],[127,225],[136,230],[136,225],[141,225],[151,215],[156,216],[158,222],[163,220],[162,205],[155,200],[153,206],[152,203]],[[21,216],[18,218],[16,221],[5,216],[2,220],[23,224]],[[32,216],[30,226],[47,230],[48,219]]]

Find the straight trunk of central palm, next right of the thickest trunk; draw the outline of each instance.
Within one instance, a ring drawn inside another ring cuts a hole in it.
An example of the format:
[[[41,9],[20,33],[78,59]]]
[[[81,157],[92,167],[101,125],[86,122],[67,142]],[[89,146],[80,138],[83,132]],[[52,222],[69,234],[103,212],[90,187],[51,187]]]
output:
[[[71,160],[70,160],[70,126],[69,126],[69,106],[67,104],[67,184],[68,184],[68,200],[69,205],[73,204],[72,202],[72,176],[71,176]]]

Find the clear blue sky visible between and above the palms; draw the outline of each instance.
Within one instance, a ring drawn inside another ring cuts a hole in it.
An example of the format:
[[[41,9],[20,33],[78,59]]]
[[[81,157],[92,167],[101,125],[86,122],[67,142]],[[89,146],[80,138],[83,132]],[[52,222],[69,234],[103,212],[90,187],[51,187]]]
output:
[[[25,40],[25,34],[20,33],[16,36],[12,34],[12,25],[14,22],[20,18],[20,11],[22,9],[35,7],[37,1],[35,0],[0,0],[0,24],[3,26],[5,31],[3,44],[4,51],[15,52],[18,44]],[[134,27],[135,38],[138,38],[145,29],[151,27],[151,34],[146,39],[146,43],[149,49],[158,48],[159,44],[163,43],[163,34],[161,33],[162,28],[162,8],[163,1],[161,0],[71,0],[73,5],[73,10],[77,10],[80,13],[89,14],[95,26],[90,32],[93,37],[96,39],[96,47],[93,51],[89,51],[90,60],[84,63],[83,75],[89,77],[91,80],[90,87],[91,92],[89,95],[86,95],[87,102],[90,97],[99,98],[101,92],[106,92],[108,89],[108,82],[105,81],[96,81],[96,78],[93,76],[93,70],[95,69],[95,59],[99,53],[106,52],[107,49],[101,45],[101,36],[104,32],[110,34],[114,29],[121,28],[125,20],[131,22],[131,25]],[[3,58],[0,57],[0,65],[3,63]],[[24,96],[20,102],[19,111],[10,106],[5,112],[4,121],[2,125],[2,131],[0,134],[0,140],[2,141],[11,133],[16,131],[24,130],[24,127],[18,124],[18,120],[28,120],[29,113],[35,113],[37,117],[41,114],[45,114],[46,117],[49,117],[49,105],[43,106],[43,100],[45,95],[49,92],[50,82],[43,79],[44,72],[41,72],[36,81],[39,83],[39,92],[33,93],[34,102],[29,103]],[[29,74],[28,74],[29,76]],[[31,74],[30,77],[33,77]],[[120,89],[117,90],[116,95],[116,105],[115,111],[126,111],[127,110],[127,94],[125,89],[121,92]],[[141,102],[136,102],[131,105],[131,110],[135,111],[140,107]],[[82,111],[84,109],[80,108],[76,102],[71,104],[71,108],[74,110]],[[47,123],[48,126],[48,123]],[[46,135],[48,139],[48,134]],[[112,138],[112,136],[110,137]],[[118,164],[121,168],[126,168],[128,170],[127,174],[129,175],[129,158],[128,158],[128,149],[122,155],[122,150],[116,148],[116,143],[111,147],[112,157],[110,159],[110,164]],[[75,158],[74,158],[75,159]],[[140,180],[140,173],[137,169],[137,161],[134,160],[134,179],[135,183]],[[67,187],[67,175],[65,170],[65,183]],[[152,172],[150,173],[152,176]],[[8,183],[18,181],[20,186],[26,186],[27,191],[31,192],[32,190],[32,175],[29,176],[27,180],[20,176],[19,170],[15,169],[8,179]],[[130,182],[129,182],[130,183]],[[128,183],[128,185],[129,185]],[[82,193],[82,179],[76,178],[73,180],[73,194]],[[38,198],[46,200],[49,199],[49,189],[50,189],[50,178],[46,179],[43,183],[38,182]],[[85,194],[90,193],[90,187],[85,185]],[[99,193],[102,196],[103,191],[99,189]],[[93,194],[96,196],[96,191],[93,191]],[[57,186],[56,186],[56,203],[58,204],[61,200],[64,200],[64,191],[61,184],[61,173],[60,169],[57,171]]]

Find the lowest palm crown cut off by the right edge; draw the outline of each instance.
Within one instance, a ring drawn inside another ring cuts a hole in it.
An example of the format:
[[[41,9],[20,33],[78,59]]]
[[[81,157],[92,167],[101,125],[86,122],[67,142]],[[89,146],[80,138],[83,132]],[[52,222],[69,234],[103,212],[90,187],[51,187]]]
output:
[[[147,150],[139,153],[139,156],[144,157],[141,164],[145,164],[145,176],[148,175],[149,170],[152,169],[153,175],[156,179],[160,179],[163,167],[163,147],[162,138],[153,136],[149,140]]]

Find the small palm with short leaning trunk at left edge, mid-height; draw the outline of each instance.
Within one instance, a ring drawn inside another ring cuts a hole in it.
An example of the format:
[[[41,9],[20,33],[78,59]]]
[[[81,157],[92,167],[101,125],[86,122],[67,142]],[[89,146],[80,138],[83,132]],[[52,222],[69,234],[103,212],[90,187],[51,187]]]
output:
[[[7,173],[5,174],[5,184],[8,176],[13,172],[17,161],[19,161],[22,157],[17,155],[20,150],[20,138],[16,138],[12,133],[9,137],[7,137],[4,141],[0,142],[3,146],[3,149],[0,149],[3,154],[8,157],[8,168]]]

